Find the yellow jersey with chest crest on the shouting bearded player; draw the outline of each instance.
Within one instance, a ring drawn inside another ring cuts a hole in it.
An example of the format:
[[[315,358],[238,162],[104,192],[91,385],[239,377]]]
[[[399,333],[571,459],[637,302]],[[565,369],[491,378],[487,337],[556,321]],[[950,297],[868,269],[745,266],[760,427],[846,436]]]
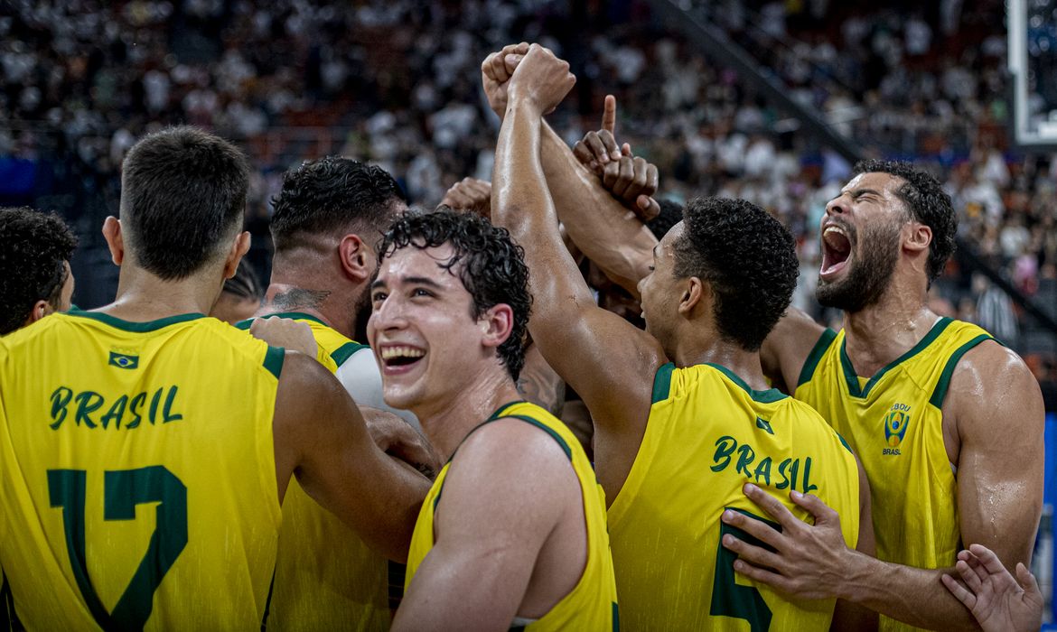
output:
[[[943,442],[943,398],[962,355],[994,338],[941,318],[910,351],[869,379],[855,374],[845,332],[826,330],[796,397],[814,406],[863,462],[873,494],[877,558],[917,569],[953,565],[962,549],[958,485]],[[880,617],[885,630],[914,630]]]

